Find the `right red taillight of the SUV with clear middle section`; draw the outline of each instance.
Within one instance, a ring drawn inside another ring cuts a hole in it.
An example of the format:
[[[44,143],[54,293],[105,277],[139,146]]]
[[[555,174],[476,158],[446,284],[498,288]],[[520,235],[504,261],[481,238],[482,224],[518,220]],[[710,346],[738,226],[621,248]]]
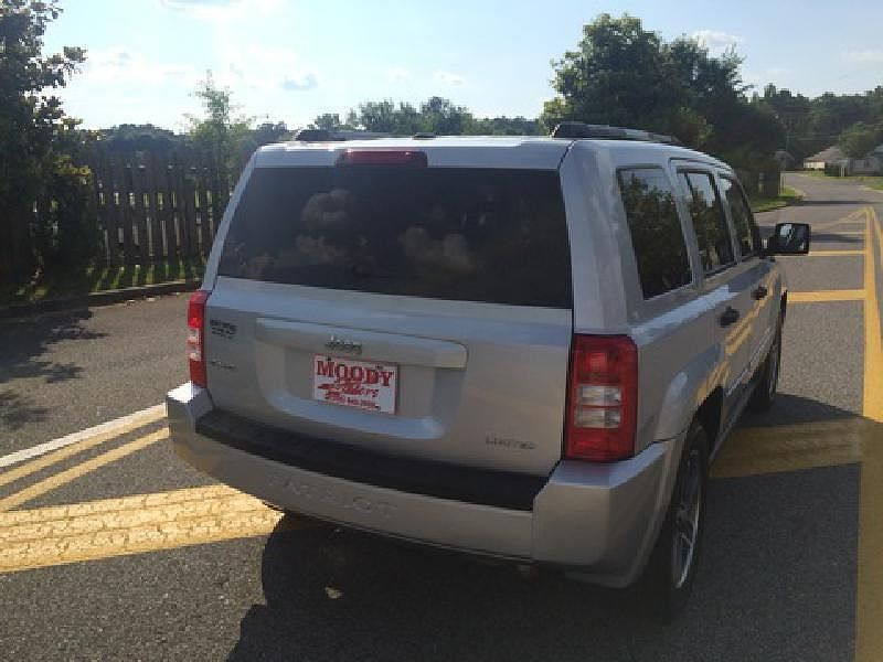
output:
[[[609,462],[635,455],[638,349],[626,335],[574,335],[564,456]]]

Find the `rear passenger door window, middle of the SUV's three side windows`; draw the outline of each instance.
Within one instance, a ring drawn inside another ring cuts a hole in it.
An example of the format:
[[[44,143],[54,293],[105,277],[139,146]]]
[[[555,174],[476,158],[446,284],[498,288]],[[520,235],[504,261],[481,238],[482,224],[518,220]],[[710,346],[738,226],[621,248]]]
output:
[[[705,274],[733,264],[733,243],[711,174],[679,172]]]

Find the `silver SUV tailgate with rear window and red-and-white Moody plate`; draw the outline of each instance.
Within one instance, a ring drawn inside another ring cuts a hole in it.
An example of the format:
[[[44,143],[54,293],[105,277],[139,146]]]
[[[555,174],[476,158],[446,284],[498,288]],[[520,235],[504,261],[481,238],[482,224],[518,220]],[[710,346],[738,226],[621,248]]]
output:
[[[206,309],[217,407],[397,456],[555,466],[573,328],[556,172],[253,180]]]

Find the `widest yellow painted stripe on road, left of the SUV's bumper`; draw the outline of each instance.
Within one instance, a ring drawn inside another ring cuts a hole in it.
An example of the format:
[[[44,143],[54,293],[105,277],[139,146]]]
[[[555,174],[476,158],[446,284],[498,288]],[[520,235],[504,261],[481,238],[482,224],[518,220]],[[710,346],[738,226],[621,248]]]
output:
[[[281,517],[220,485],[3,513],[0,573],[266,535]]]

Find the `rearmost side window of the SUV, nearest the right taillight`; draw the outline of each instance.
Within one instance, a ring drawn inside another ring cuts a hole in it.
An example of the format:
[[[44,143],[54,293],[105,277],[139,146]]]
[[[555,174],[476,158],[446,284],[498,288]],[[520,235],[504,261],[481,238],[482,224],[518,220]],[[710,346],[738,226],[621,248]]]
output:
[[[687,243],[666,173],[661,168],[620,170],[619,191],[643,298],[689,284],[693,277]]]

